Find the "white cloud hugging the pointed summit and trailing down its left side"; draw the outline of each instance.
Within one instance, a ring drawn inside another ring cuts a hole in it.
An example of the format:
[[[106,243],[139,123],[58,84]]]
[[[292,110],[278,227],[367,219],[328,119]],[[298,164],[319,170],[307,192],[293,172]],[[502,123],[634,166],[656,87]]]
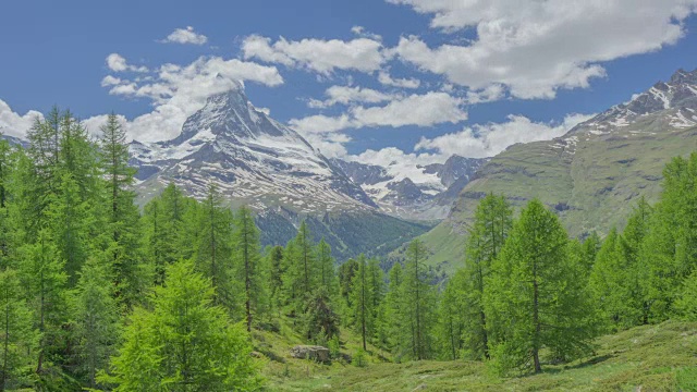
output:
[[[107,76],[102,79],[102,86],[110,87],[111,95],[152,100],[155,107],[151,112],[135,118],[124,126],[132,138],[156,142],[179,135],[184,121],[200,109],[209,96],[239,88],[240,81],[267,86],[283,83],[274,66],[237,59],[201,57],[188,65],[161,65],[151,78],[130,81]]]

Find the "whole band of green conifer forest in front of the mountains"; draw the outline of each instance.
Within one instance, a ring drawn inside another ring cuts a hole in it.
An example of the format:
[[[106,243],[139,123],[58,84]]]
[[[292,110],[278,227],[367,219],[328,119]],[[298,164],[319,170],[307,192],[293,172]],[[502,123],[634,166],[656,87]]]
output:
[[[570,237],[537,199],[484,196],[445,281],[419,238],[388,271],[339,265],[304,222],[261,248],[255,212],[215,186],[197,200],[170,184],[139,208],[134,175],[115,115],[94,139],[54,109],[28,145],[0,142],[0,391],[273,390],[255,332],[284,328],[358,367],[475,360],[505,378],[697,321],[697,154],[604,237]]]

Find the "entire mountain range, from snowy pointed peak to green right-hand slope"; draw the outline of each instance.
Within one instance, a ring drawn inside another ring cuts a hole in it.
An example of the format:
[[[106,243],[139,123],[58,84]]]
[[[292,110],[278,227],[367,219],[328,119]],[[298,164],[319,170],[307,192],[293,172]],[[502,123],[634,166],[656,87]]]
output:
[[[142,205],[170,182],[199,198],[216,184],[231,206],[257,211],[264,244],[285,243],[306,219],[340,259],[387,255],[424,234],[431,261],[453,268],[487,193],[515,206],[539,198],[572,235],[602,234],[624,224],[638,197],[656,199],[671,157],[696,149],[697,71],[680,70],[564,136],[513,145],[493,158],[455,155],[408,172],[396,163],[326,158],[255,108],[240,84],[209,97],[178,137],[134,140],[131,162],[139,169]]]

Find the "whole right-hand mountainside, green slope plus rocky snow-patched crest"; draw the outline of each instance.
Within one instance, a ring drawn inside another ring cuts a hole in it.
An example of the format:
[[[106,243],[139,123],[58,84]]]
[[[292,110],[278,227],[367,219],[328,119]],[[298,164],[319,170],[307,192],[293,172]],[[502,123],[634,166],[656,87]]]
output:
[[[464,235],[484,195],[516,207],[539,198],[572,236],[622,226],[640,196],[652,201],[662,169],[697,149],[697,71],[676,72],[629,102],[615,106],[547,142],[514,145],[496,156],[461,192],[450,216],[424,238],[431,262],[462,262]]]

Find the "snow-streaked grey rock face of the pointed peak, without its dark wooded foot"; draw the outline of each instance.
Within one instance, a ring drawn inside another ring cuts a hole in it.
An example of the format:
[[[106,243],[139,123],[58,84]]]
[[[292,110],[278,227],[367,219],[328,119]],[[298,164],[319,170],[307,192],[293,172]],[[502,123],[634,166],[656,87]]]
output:
[[[305,138],[256,109],[242,85],[209,97],[178,137],[133,142],[131,154],[139,168],[140,203],[174,182],[199,198],[216,184],[233,205],[256,210],[281,206],[316,213],[377,207]]]

